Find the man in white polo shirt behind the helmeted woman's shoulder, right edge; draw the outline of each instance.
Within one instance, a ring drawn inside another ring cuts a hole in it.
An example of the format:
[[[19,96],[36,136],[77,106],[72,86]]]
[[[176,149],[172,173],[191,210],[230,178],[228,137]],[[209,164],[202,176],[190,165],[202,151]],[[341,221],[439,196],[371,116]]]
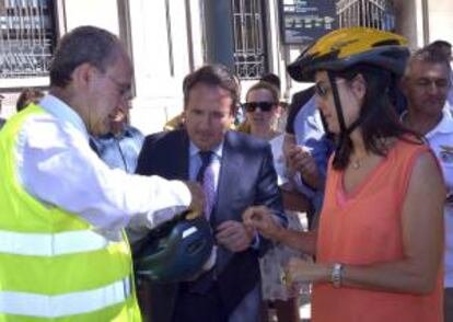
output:
[[[423,135],[442,168],[448,197],[444,206],[444,321],[453,321],[453,119],[444,104],[451,88],[450,61],[428,46],[409,59],[403,79],[407,111],[402,122]]]

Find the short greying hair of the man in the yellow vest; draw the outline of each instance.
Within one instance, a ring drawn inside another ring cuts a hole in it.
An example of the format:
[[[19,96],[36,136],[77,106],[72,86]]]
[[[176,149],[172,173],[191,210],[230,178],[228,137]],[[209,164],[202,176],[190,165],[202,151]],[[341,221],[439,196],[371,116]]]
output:
[[[72,71],[89,62],[105,71],[116,58],[119,39],[112,33],[95,27],[80,26],[59,42],[50,65],[50,85],[65,88],[71,82]]]

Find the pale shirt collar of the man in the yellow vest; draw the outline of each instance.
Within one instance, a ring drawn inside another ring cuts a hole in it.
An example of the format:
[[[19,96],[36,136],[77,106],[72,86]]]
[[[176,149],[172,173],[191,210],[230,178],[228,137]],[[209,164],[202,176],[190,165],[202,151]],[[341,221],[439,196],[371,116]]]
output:
[[[46,112],[54,115],[59,120],[63,123],[70,123],[86,137],[86,140],[90,138],[86,126],[83,123],[82,118],[73,108],[71,108],[71,106],[66,104],[60,99],[48,94],[39,101],[39,106],[42,106]]]

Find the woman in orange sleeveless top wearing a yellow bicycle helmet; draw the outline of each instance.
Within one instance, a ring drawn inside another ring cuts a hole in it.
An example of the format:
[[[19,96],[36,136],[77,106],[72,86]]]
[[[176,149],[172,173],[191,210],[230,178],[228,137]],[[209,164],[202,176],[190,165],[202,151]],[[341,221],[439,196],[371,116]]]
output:
[[[291,260],[287,280],[314,283],[312,319],[442,321],[445,191],[429,148],[399,123],[395,84],[406,39],[369,28],[335,31],[290,67],[315,80],[316,101],[337,149],[327,172],[317,233],[286,230],[264,207],[244,222],[316,254]]]

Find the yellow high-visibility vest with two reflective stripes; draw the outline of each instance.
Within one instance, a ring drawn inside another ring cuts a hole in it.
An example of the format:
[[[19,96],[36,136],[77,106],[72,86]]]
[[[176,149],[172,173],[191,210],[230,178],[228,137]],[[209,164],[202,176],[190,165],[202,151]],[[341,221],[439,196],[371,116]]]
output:
[[[105,237],[18,180],[18,134],[42,113],[28,106],[0,130],[0,321],[141,321],[124,231]]]

